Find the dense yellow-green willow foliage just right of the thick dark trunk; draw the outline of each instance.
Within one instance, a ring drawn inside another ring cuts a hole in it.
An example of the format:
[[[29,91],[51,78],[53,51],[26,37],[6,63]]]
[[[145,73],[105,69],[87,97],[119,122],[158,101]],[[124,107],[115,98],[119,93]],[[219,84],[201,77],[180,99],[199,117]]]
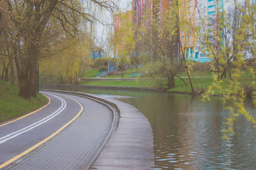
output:
[[[56,49],[56,54],[53,54],[51,58],[40,59],[40,79],[58,76],[61,83],[77,83],[79,76],[83,76],[89,70],[92,59],[89,57],[86,37],[84,35],[75,39],[68,35],[66,37],[61,43],[61,47],[52,47]]]

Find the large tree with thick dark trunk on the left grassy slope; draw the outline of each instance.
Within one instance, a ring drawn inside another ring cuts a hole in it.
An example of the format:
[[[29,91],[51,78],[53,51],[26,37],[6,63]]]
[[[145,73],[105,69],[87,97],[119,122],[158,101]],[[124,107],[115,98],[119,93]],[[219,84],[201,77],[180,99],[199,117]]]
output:
[[[16,27],[16,32],[21,38],[20,44],[24,46],[24,54],[20,59],[20,91],[19,96],[26,99],[36,97],[38,90],[38,57],[42,35],[49,23],[55,18],[61,24],[61,29],[69,35],[75,37],[77,22],[92,22],[97,16],[93,16],[86,8],[89,2],[94,7],[100,7],[108,11],[113,11],[115,5],[113,1],[59,1],[59,0],[30,0],[30,1],[8,1],[3,0],[8,8],[10,22]]]

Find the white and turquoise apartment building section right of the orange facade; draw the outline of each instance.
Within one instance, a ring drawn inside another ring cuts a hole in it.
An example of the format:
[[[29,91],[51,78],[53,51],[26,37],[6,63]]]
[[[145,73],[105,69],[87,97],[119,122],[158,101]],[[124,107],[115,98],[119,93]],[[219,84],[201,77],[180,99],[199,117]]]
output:
[[[229,12],[235,7],[235,3],[244,6],[246,1],[245,0],[192,0],[192,1],[187,1],[185,0],[185,4],[191,4],[189,6],[190,9],[195,8],[195,13],[193,16],[195,18],[192,18],[191,21],[193,22],[193,26],[203,26],[203,20],[204,24],[207,25],[211,23],[210,27],[210,36],[211,37],[218,37],[217,34],[221,33],[220,30],[218,30],[218,23],[216,20],[222,16],[222,13]],[[247,1],[250,4],[255,4],[255,0],[249,0]],[[192,58],[195,59],[196,61],[209,61],[207,55],[203,52],[202,47],[203,45],[200,43],[200,41],[197,39],[197,35],[195,33],[195,39],[189,41],[189,45],[184,46],[184,48],[187,48],[187,54],[185,55],[186,58]],[[182,44],[181,40],[181,44]],[[211,39],[212,44],[217,44],[217,41],[220,41],[218,39]]]

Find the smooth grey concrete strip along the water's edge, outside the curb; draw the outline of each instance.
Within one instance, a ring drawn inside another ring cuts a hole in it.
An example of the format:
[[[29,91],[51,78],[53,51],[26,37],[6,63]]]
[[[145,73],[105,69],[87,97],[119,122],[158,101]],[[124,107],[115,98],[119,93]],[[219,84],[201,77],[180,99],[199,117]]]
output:
[[[153,135],[147,118],[129,104],[108,101],[120,111],[119,125],[90,169],[154,169]]]

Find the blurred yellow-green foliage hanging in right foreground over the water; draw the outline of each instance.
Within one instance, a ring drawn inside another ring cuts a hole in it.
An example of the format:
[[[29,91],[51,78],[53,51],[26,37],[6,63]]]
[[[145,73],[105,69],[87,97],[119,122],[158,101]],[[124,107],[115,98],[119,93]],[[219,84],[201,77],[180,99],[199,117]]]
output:
[[[218,88],[224,95],[224,107],[230,112],[230,117],[226,118],[224,125],[226,129],[223,129],[224,133],[223,139],[229,139],[229,134],[234,134],[233,125],[237,120],[237,117],[242,114],[246,117],[248,121],[251,121],[256,128],[256,121],[243,104],[245,99],[244,92],[244,78],[243,71],[247,70],[253,77],[251,77],[251,86],[254,86],[254,104],[255,103],[255,71],[256,71],[256,61],[255,61],[255,5],[250,5],[249,3],[244,6],[236,5],[236,10],[233,9],[233,15],[226,14],[224,12],[223,16],[218,16],[219,19],[216,20],[217,28],[219,30],[212,35],[220,43],[214,44],[208,39],[209,33],[212,32],[210,29],[205,29],[204,33],[201,35],[201,40],[203,40],[205,46],[205,52],[208,52],[208,57],[212,58],[216,65],[212,65],[214,81],[212,86],[209,86],[207,94],[214,94],[214,90]],[[238,15],[239,14],[239,15]],[[233,18],[230,18],[230,17]],[[236,24],[234,24],[236,23]],[[201,27],[203,28],[203,27]],[[231,35],[230,32],[234,32]],[[226,37],[229,37],[226,38]],[[250,58],[244,56],[245,52],[251,54]],[[246,60],[251,61],[253,64],[251,66],[246,65]],[[229,87],[222,88],[222,76],[224,73],[231,75],[229,80]],[[207,99],[208,95],[204,96]],[[209,98],[208,98],[209,99]],[[229,100],[231,103],[227,104],[225,101]]]

